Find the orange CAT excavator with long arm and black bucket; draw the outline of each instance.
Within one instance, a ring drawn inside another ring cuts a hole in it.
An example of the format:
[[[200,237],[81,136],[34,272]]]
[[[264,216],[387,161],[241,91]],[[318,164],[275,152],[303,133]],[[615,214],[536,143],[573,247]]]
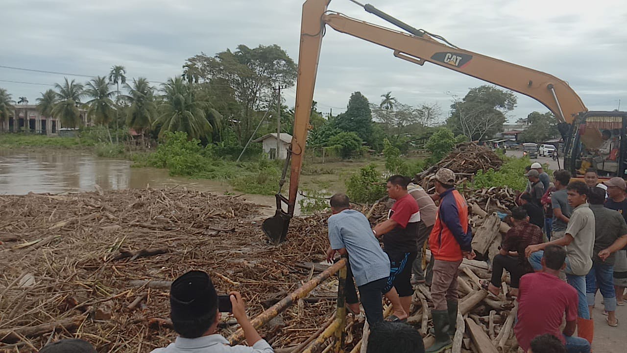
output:
[[[394,57],[416,65],[422,66],[429,62],[527,95],[542,103],[556,117],[557,127],[564,140],[562,156],[565,169],[570,170],[573,175],[583,174],[587,166],[596,167],[600,175],[624,177],[627,174],[627,161],[624,160],[627,156],[627,143],[621,143],[627,138],[624,129],[627,126],[627,112],[588,111],[564,80],[532,68],[463,50],[442,36],[414,28],[371,4],[349,1],[401,31],[329,11],[331,0],[307,0],[303,4],[292,144],[276,195],[277,211],[262,225],[266,236],[274,244],[287,239],[288,226],[295,210],[307,131],[310,129],[309,116],[314,98],[320,46],[327,26],[389,48],[393,50]],[[608,148],[611,149],[609,153]],[[605,153],[599,153],[602,149]],[[288,165],[290,185],[289,195],[285,197],[281,190]],[[284,205],[287,205],[287,210],[283,209]]]

